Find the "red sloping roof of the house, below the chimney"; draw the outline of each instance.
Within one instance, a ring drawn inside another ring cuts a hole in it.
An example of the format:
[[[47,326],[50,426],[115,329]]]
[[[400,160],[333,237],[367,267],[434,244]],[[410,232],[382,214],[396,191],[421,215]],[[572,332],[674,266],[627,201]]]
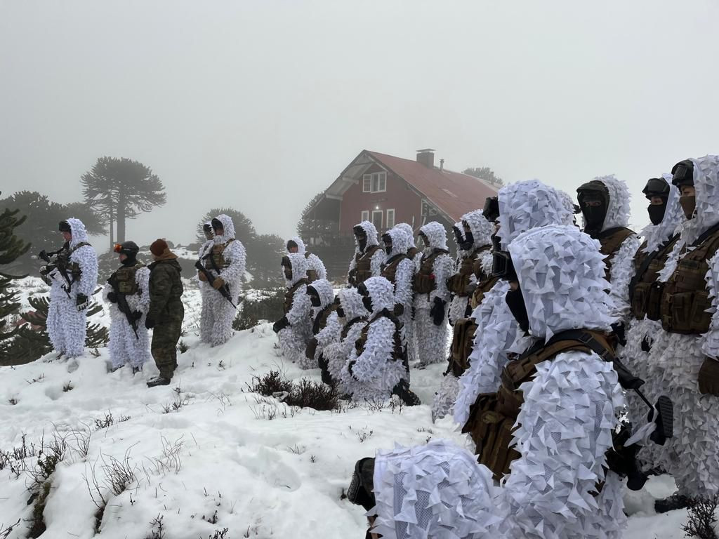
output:
[[[429,168],[393,155],[367,153],[412,185],[454,221],[459,221],[464,213],[483,208],[488,196],[497,195],[497,187],[474,176],[446,169],[440,171],[439,168]]]

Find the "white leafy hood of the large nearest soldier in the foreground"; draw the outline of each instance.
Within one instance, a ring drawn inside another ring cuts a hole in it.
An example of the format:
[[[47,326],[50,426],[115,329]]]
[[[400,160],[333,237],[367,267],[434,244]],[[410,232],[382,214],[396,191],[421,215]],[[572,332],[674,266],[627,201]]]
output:
[[[535,337],[587,328],[610,331],[612,300],[604,255],[575,226],[544,226],[517,236],[509,252]]]

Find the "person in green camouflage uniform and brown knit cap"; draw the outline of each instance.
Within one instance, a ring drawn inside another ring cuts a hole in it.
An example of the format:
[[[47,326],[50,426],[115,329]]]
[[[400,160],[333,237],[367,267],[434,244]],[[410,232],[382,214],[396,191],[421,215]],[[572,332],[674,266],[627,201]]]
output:
[[[147,387],[168,385],[178,366],[177,344],[185,318],[182,304],[183,286],[180,280],[180,264],[177,255],[168,248],[163,239],[155,240],[150,246],[150,311],[145,326],[152,332],[152,357],[155,359],[160,376],[147,382]]]

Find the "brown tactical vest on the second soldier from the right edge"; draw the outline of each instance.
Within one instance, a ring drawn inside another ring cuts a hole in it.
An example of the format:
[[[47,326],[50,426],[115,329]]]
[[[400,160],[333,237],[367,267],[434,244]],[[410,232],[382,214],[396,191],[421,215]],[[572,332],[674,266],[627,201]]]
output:
[[[654,287],[659,272],[671,254],[679,234],[669,239],[654,252],[646,253],[646,241],[639,247],[634,257],[634,277],[629,283],[631,313],[637,320],[661,318],[661,289]]]

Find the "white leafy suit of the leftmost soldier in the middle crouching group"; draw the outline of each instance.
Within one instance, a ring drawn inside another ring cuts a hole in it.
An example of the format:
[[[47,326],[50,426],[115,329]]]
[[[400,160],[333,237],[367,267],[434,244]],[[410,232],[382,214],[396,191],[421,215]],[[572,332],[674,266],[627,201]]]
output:
[[[280,350],[293,363],[301,363],[307,342],[312,337],[312,305],[307,295],[307,260],[299,253],[288,254],[292,279],[285,279],[285,319],[287,327],[278,332]]]

